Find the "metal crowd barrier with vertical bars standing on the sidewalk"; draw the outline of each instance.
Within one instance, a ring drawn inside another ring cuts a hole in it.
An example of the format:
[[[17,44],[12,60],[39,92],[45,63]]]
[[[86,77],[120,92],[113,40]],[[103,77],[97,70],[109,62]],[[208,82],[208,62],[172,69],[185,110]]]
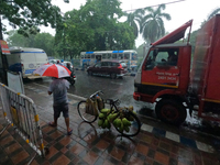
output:
[[[36,106],[33,100],[20,92],[15,92],[3,84],[0,84],[0,94],[3,116],[9,123],[2,129],[0,135],[9,125],[12,125],[21,138],[35,151],[35,155],[29,164],[34,160],[36,153],[44,157],[43,135],[38,123]]]

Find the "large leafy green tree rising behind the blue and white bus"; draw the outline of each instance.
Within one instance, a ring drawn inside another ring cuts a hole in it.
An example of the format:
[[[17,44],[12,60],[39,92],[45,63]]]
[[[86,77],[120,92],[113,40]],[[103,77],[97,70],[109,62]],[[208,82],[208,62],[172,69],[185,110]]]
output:
[[[133,29],[118,22],[122,15],[118,0],[88,0],[79,10],[65,13],[65,23],[56,29],[57,52],[73,58],[82,51],[133,48]]]

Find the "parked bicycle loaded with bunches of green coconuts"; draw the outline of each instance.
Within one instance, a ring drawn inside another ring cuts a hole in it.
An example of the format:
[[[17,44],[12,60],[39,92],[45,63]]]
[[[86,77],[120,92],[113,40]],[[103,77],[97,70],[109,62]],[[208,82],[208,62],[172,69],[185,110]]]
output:
[[[119,99],[103,100],[100,97],[100,95],[103,95],[103,92],[101,90],[98,90],[95,94],[92,94],[87,99],[87,101],[80,101],[78,103],[77,110],[78,110],[80,118],[85,122],[92,123],[99,117],[98,125],[103,129],[105,128],[110,129],[111,125],[113,125],[116,128],[116,130],[124,136],[135,136],[136,134],[139,134],[139,132],[141,130],[141,122],[140,122],[139,118],[136,117],[135,112],[133,112],[130,108],[127,108],[127,107],[119,108],[118,107],[120,105]],[[95,105],[94,105],[92,110],[97,111],[97,112],[90,113],[87,111],[88,110],[87,108],[89,106],[88,100],[94,101]],[[101,106],[100,101],[101,101],[102,106]],[[100,103],[100,105],[98,105],[98,103]],[[110,106],[110,107],[108,109],[107,108],[105,109],[106,106]],[[101,116],[101,113],[102,113],[102,116],[103,116],[103,113],[106,113],[106,119],[102,119],[103,117]],[[113,116],[113,117],[110,117],[110,116]],[[108,120],[110,125],[108,124],[106,127],[102,127],[100,124],[101,123],[100,120],[105,120],[102,122],[106,122],[106,120]],[[116,122],[116,120],[118,120],[118,121]]]

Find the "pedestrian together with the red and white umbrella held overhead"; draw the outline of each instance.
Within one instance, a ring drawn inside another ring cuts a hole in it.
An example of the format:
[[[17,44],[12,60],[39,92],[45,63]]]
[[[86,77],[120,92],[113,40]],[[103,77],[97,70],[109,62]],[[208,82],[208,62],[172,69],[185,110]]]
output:
[[[68,114],[68,98],[67,89],[69,88],[69,82],[63,77],[69,76],[72,73],[68,68],[56,64],[45,64],[34,70],[34,74],[41,76],[53,77],[53,81],[48,87],[48,95],[53,94],[53,109],[54,109],[54,121],[50,122],[51,127],[57,127],[57,120],[63,112],[65,119],[67,134],[73,133],[73,129],[69,128],[69,114]]]

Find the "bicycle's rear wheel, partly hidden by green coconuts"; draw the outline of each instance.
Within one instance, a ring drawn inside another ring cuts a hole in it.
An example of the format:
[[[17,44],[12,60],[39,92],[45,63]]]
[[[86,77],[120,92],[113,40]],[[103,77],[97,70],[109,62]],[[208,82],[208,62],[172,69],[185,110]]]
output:
[[[127,118],[127,120],[131,122],[131,125],[128,127],[128,130],[122,129],[122,131],[120,128],[114,127],[117,131],[119,131],[124,136],[135,136],[136,134],[139,134],[141,130],[141,122],[139,118],[131,111],[124,111],[122,113],[123,118]]]

